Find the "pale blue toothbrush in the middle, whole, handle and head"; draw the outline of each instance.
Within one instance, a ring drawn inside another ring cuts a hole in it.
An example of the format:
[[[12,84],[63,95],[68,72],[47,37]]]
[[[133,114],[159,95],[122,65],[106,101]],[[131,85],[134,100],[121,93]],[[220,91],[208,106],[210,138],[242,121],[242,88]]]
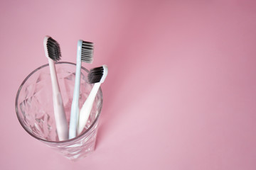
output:
[[[80,95],[80,73],[81,73],[81,61],[92,63],[93,43],[78,40],[77,50],[77,63],[75,70],[75,89],[73,94],[73,101],[70,112],[70,128],[69,139],[76,137],[78,128],[78,114],[79,114],[79,95]]]

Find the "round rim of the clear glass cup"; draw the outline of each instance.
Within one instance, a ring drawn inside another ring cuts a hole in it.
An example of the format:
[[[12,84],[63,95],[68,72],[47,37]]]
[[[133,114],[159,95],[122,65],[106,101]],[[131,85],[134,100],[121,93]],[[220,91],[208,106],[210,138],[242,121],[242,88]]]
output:
[[[55,62],[55,64],[71,64],[71,65],[75,65],[75,63],[73,62]],[[70,140],[61,140],[61,141],[51,141],[51,140],[44,140],[42,139],[41,137],[38,137],[36,135],[33,135],[32,132],[30,132],[26,127],[25,125],[23,125],[22,121],[21,121],[21,118],[18,114],[18,96],[19,96],[19,93],[23,87],[23,85],[26,83],[26,81],[35,73],[37,72],[38,70],[40,69],[43,69],[44,67],[48,67],[49,64],[43,64],[41,67],[38,67],[36,69],[34,69],[30,74],[28,74],[28,76],[22,81],[21,85],[19,86],[18,88],[18,91],[17,91],[17,94],[16,94],[16,99],[15,99],[15,111],[16,111],[16,115],[17,115],[17,118],[18,118],[18,122],[21,124],[21,126],[23,127],[24,130],[26,130],[26,132],[28,132],[29,135],[31,135],[32,137],[35,137],[37,140],[41,140],[43,142],[48,142],[48,143],[68,143],[68,142],[71,142],[71,141],[74,141],[74,140],[79,140],[79,138],[81,138],[83,135],[87,134],[87,132],[89,132],[91,130],[91,128],[95,125],[95,123],[97,123],[97,120],[100,118],[100,113],[101,113],[101,110],[102,110],[102,107],[100,107],[100,110],[99,112],[97,113],[97,117],[95,118],[95,120],[93,120],[92,124],[90,125],[89,128],[87,128],[87,130],[85,130],[85,132],[82,132],[80,133],[80,135],[76,136],[76,137],[73,137],[72,139]],[[81,69],[84,69],[85,72],[89,72],[88,69],[86,69],[85,67],[82,67],[81,66]],[[101,100],[102,100],[102,104],[103,104],[103,95],[102,95],[102,89],[100,87],[99,91],[97,93],[100,93],[100,96],[101,96]]]

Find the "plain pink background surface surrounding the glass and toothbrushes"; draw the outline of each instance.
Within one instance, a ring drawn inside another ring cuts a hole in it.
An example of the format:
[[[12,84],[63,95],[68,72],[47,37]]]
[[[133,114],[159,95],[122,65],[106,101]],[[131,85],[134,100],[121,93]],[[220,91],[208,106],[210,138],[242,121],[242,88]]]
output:
[[[256,169],[254,1],[1,1],[0,169]],[[79,39],[109,66],[93,154],[70,162],[16,118],[21,81],[75,62]]]

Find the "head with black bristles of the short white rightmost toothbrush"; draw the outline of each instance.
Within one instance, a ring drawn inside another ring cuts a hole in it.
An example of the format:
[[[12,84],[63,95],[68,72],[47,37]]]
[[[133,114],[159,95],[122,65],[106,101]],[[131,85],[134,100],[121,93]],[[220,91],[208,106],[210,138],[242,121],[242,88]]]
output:
[[[107,65],[102,65],[102,67],[96,67],[90,69],[88,74],[88,80],[90,84],[103,83],[107,77],[108,68]]]

